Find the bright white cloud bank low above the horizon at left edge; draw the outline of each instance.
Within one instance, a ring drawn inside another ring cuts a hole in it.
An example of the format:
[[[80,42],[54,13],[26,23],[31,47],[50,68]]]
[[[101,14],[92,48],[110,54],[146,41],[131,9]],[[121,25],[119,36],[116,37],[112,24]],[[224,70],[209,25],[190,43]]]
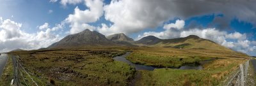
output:
[[[46,28],[46,25],[47,24],[44,24],[44,28]],[[0,52],[9,52],[16,48],[32,50],[48,47],[60,39],[60,36],[52,34],[52,30],[48,28],[48,25],[45,31],[40,31],[36,34],[24,32],[20,30],[20,27],[22,27],[22,24],[20,23],[14,22],[10,19],[1,19]]]

